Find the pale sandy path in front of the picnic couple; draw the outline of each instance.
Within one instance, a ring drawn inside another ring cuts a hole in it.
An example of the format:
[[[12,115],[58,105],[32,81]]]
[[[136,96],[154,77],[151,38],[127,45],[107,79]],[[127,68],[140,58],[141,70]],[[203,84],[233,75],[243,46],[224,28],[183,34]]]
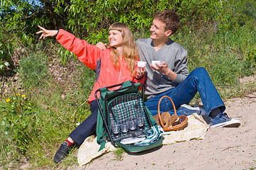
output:
[[[226,102],[226,113],[242,122],[239,128],[210,128],[204,140],[164,145],[150,152],[113,153],[82,169],[250,169],[256,167],[256,92]]]

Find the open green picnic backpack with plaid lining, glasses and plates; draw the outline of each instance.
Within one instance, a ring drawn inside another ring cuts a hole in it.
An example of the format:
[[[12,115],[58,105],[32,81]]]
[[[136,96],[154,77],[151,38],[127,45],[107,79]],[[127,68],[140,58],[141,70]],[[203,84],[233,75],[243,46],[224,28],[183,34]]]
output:
[[[100,93],[99,99],[97,93]],[[160,130],[145,106],[143,96],[142,84],[132,81],[95,92],[99,105],[96,126],[97,142],[101,144],[99,150],[104,148],[106,140],[128,152],[141,152],[162,145]]]

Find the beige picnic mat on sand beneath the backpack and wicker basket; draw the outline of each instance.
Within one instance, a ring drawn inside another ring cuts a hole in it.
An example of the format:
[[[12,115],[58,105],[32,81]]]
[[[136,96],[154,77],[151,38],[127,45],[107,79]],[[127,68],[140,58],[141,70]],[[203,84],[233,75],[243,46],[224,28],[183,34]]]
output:
[[[204,121],[201,115],[196,113],[188,116],[188,126],[184,130],[163,132],[162,137],[165,139],[162,145],[173,144],[174,142],[182,142],[189,140],[202,140],[206,135],[209,125]],[[111,145],[111,142],[106,142],[105,148],[99,151],[100,145],[96,142],[96,137],[90,136],[84,140],[79,147],[77,153],[77,161],[79,166],[89,163],[92,159],[101,156],[107,152],[114,151],[116,148]]]

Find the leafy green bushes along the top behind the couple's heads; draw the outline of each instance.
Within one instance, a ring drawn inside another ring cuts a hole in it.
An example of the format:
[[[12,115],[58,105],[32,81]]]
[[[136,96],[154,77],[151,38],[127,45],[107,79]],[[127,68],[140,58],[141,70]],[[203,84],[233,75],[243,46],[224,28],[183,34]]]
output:
[[[236,23],[255,28],[256,16],[252,0],[6,0],[1,1],[0,9],[5,28],[11,28],[11,34],[25,46],[28,42],[35,42],[38,25],[48,29],[65,28],[79,38],[96,44],[106,42],[111,23],[127,23],[133,32],[149,30],[155,13],[164,9],[177,11],[182,26],[195,29],[214,25],[216,29],[227,30],[238,26]],[[62,62],[68,60],[67,53],[60,50]]]

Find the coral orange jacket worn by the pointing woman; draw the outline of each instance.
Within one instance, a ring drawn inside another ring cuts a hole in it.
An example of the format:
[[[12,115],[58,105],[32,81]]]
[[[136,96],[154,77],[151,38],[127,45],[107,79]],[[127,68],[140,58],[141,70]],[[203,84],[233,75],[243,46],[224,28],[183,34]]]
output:
[[[111,49],[101,50],[95,45],[89,44],[86,40],[80,40],[71,33],[60,29],[56,39],[70,52],[77,55],[80,62],[83,62],[89,69],[96,72],[94,88],[89,96],[89,103],[95,100],[95,91],[106,86],[121,84],[124,81],[134,81],[144,84],[145,77],[137,80],[130,75],[130,69],[124,60],[121,60],[120,67],[115,68],[111,60]],[[99,94],[98,94],[99,98]]]

